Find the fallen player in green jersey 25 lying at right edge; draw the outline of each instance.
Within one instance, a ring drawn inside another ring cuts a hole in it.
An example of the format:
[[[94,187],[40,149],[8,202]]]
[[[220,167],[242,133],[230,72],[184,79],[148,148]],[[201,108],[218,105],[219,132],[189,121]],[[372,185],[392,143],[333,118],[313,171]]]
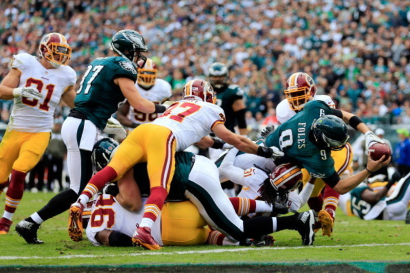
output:
[[[396,182],[392,194],[387,197],[389,189]],[[370,185],[362,183],[350,193],[341,195],[339,201],[346,215],[356,215],[364,220],[404,220],[410,201],[410,173],[401,178],[396,172],[377,192]]]

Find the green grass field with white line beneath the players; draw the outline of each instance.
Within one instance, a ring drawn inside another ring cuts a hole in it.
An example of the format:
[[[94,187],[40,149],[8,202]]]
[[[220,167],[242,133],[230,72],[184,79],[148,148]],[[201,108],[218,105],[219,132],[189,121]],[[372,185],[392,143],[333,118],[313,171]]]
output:
[[[274,234],[273,247],[168,246],[157,251],[95,247],[87,240],[79,243],[70,240],[66,229],[68,213],[50,219],[38,230],[38,238],[44,240],[44,244],[26,244],[14,232],[15,224],[52,196],[51,193],[25,193],[14,215],[11,232],[0,236],[0,266],[5,269],[2,272],[107,271],[101,266],[119,271],[138,268],[138,271],[158,272],[245,272],[248,269],[249,272],[305,272],[306,266],[315,272],[410,272],[410,225],[404,221],[363,221],[344,216],[341,211],[337,212],[332,237],[323,237],[319,232],[313,246],[301,246],[296,231],[284,230]],[[0,200],[3,206],[4,194]],[[194,265],[201,267],[192,267]]]

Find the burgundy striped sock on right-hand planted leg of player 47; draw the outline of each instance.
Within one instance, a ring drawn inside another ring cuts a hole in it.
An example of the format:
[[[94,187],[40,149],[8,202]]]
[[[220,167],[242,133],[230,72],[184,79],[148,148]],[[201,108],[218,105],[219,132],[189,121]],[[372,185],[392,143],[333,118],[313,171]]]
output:
[[[161,212],[163,202],[167,198],[167,190],[163,187],[152,187],[150,196],[148,197],[147,203],[144,207],[144,216],[142,217],[140,227],[151,228],[157,219],[159,213]]]

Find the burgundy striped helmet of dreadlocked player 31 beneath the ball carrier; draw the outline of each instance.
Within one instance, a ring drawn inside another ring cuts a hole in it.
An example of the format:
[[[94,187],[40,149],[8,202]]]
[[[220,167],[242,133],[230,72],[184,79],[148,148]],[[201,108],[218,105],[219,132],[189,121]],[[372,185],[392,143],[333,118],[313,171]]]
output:
[[[281,164],[270,174],[269,180],[276,191],[290,192],[302,181],[302,170],[293,163]]]

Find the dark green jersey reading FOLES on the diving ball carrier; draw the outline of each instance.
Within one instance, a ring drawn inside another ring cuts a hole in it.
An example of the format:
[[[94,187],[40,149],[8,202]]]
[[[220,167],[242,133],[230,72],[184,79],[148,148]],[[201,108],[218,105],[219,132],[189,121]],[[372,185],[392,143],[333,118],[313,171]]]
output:
[[[280,162],[293,162],[303,166],[316,178],[329,177],[335,172],[331,151],[314,144],[309,135],[313,122],[330,114],[332,109],[324,101],[309,101],[302,111],[279,125],[265,139],[265,145],[276,146],[285,154]]]

